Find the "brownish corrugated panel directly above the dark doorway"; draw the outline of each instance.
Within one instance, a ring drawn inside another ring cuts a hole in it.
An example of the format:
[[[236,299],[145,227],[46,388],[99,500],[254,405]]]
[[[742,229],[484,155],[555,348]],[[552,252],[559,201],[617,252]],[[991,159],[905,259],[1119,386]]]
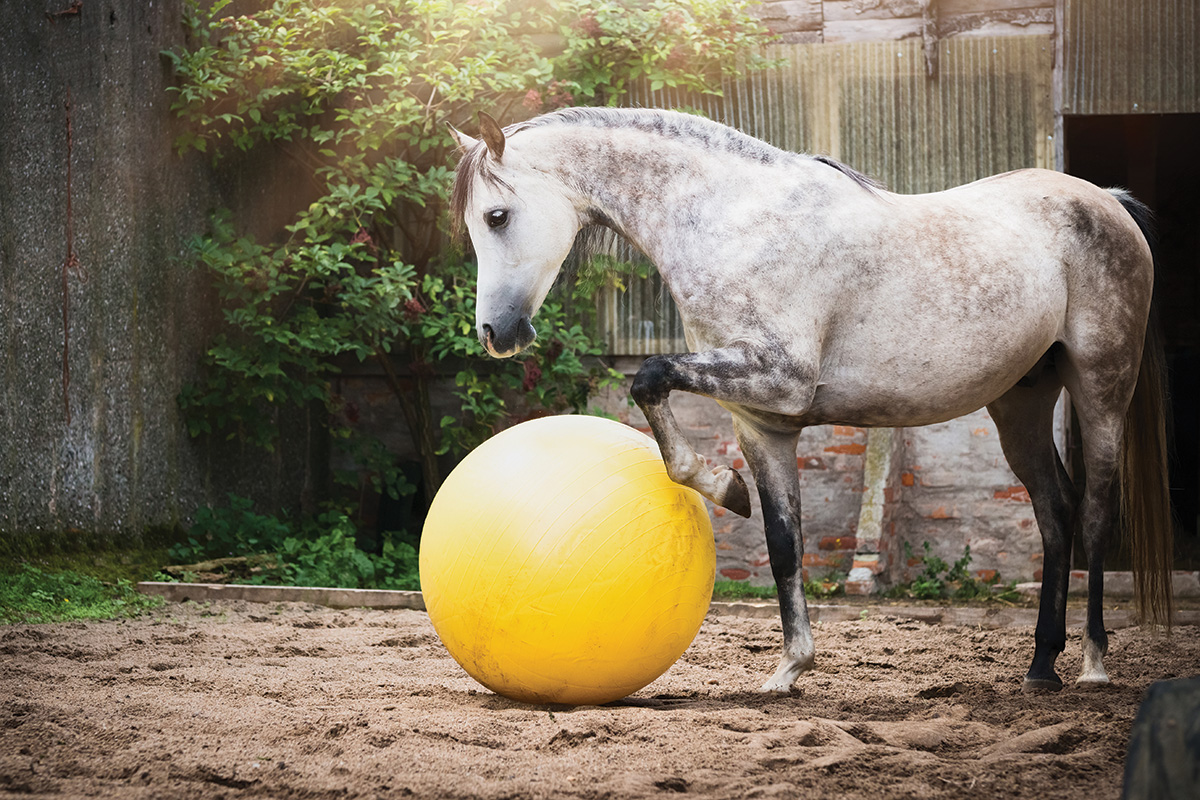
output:
[[[1066,0],[1062,113],[1200,113],[1200,2]]]

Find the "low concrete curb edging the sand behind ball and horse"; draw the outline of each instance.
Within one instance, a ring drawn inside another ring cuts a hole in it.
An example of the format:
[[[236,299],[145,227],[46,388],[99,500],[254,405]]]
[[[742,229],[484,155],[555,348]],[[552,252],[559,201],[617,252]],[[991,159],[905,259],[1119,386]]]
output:
[[[317,587],[250,587],[223,583],[158,583],[146,581],[138,591],[157,595],[172,602],[205,602],[211,600],[242,600],[252,603],[316,603],[330,608],[406,608],[425,610],[419,591],[389,591],[384,589],[322,589]],[[779,604],[774,602],[714,602],[708,613],[715,616],[778,619]],[[846,622],[871,616],[898,616],[930,625],[962,625],[980,628],[1022,627],[1037,624],[1036,608],[980,608],[974,606],[858,606],[809,604],[814,622]],[[1084,609],[1067,610],[1067,624],[1084,624]],[[1115,608],[1104,612],[1109,628],[1132,627],[1138,624],[1133,609]],[[1176,625],[1200,625],[1200,610],[1183,609],[1175,614]]]

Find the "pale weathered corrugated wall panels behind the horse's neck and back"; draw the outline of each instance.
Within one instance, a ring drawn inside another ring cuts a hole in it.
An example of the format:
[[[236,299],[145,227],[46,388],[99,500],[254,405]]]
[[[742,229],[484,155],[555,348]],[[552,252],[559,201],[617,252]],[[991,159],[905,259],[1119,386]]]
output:
[[[952,38],[938,77],[920,41],[794,44],[784,66],[731,83],[724,97],[641,91],[632,103],[694,108],[772,144],[839,158],[898,192],[931,192],[1020,167],[1054,167],[1046,36]],[[601,299],[613,355],[686,349],[656,277]]]

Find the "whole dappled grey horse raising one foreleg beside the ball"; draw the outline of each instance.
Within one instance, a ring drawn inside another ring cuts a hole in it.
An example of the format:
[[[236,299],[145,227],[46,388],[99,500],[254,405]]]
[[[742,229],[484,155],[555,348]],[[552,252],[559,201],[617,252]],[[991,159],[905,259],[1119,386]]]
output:
[[[1153,259],[1132,197],[1039,169],[894,194],[835,161],[672,112],[575,108],[504,130],[482,115],[480,140],[455,134],[451,204],[479,259],[490,354],[533,342],[530,319],[581,228],[622,234],[661,272],[691,353],[647,359],[632,396],[671,477],[750,516],[742,477],[706,465],[667,397],[703,395],[733,415],[784,624],[763,690],[787,691],[814,663],[796,469],[810,425],[929,425],[988,407],[1045,551],[1026,687],[1062,686],[1076,521],[1090,579],[1078,682],[1108,681],[1104,548],[1122,512],[1140,607],[1169,624],[1162,378],[1144,347]],[[1052,438],[1063,386],[1081,491]]]

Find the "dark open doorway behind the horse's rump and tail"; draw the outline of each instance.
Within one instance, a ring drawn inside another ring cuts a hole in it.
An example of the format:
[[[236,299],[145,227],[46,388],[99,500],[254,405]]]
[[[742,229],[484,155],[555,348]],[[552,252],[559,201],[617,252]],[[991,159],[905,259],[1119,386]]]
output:
[[[1154,287],[1172,411],[1176,569],[1200,569],[1200,114],[1069,116],[1066,170],[1154,210]],[[1081,558],[1076,548],[1076,558]],[[1116,551],[1117,548],[1110,548]],[[1114,554],[1120,561],[1121,555]],[[1128,564],[1114,563],[1114,569]]]

